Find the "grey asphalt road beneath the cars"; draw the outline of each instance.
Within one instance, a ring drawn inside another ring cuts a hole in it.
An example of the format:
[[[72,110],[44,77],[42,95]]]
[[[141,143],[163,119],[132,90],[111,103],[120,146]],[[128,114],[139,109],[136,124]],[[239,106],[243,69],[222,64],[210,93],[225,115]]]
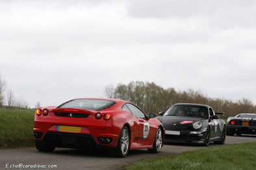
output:
[[[256,136],[227,136],[224,145],[235,143],[256,142]],[[216,147],[210,143],[209,147]],[[53,153],[42,153],[36,148],[29,149],[1,149],[0,169],[37,169],[33,166],[40,166],[39,169],[104,169],[119,170],[125,164],[129,164],[143,158],[152,158],[166,154],[183,153],[184,151],[194,151],[205,149],[198,145],[174,145],[167,143],[162,147],[159,154],[151,154],[147,149],[129,151],[126,158],[112,158],[107,152],[88,152],[77,149],[55,149]],[[45,168],[42,166],[56,166]],[[19,166],[21,168],[19,168]],[[29,167],[32,166],[32,167]]]

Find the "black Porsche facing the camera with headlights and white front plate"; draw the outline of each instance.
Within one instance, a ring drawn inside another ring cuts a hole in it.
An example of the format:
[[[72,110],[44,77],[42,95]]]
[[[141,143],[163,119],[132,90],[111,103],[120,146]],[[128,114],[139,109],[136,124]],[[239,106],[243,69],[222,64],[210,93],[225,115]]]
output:
[[[156,119],[166,130],[165,142],[187,142],[209,145],[225,143],[225,122],[208,105],[177,103]]]

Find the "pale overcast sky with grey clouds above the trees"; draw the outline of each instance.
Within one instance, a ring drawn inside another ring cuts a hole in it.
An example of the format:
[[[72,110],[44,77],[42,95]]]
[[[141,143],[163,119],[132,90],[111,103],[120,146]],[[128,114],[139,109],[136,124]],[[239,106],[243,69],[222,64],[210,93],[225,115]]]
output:
[[[0,72],[34,107],[149,81],[256,103],[256,1],[0,1]]]

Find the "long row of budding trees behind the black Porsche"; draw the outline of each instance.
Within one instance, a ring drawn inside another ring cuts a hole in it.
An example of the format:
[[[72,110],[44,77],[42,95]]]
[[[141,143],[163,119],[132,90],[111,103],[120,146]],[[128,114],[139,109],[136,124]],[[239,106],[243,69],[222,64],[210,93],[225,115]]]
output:
[[[164,89],[151,82],[130,81],[127,85],[118,83],[116,87],[110,84],[103,91],[107,98],[131,101],[138,105],[147,114],[149,112],[159,113],[167,111],[175,103],[200,103],[210,105],[215,112],[225,112],[228,118],[241,112],[256,113],[254,103],[246,98],[238,101],[226,100],[224,98],[209,98],[200,90],[177,91],[172,87]]]

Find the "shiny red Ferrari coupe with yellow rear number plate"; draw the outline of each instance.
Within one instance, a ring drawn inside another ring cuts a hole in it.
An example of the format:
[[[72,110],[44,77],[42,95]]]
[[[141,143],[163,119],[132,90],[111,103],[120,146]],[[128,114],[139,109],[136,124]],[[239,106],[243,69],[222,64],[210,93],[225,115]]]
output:
[[[34,141],[39,151],[55,147],[109,150],[125,157],[129,150],[159,153],[164,145],[164,127],[129,101],[79,98],[57,107],[38,109],[34,115]]]

